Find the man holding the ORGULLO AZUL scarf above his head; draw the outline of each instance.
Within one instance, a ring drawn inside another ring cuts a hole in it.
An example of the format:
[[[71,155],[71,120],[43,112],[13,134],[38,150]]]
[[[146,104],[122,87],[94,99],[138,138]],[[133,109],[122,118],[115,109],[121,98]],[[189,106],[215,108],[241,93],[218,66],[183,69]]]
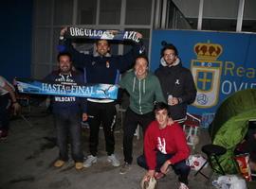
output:
[[[76,50],[71,42],[64,39],[67,28],[61,30],[60,43],[63,43],[62,49],[72,54],[74,66],[84,70],[84,77],[88,83],[117,84],[119,82],[119,73],[126,71],[132,66],[137,55],[143,49],[141,43],[135,43],[133,49],[123,56],[112,56],[110,44],[106,40],[99,40],[96,43],[96,54],[85,55]],[[142,38],[137,33],[138,39]],[[103,127],[105,136],[105,146],[107,151],[107,161],[113,166],[119,166],[119,160],[116,158],[114,129],[116,122],[116,102],[113,99],[95,99],[88,98],[88,122],[90,126],[89,148],[90,155],[83,163],[84,167],[89,167],[97,162],[97,152],[99,144],[99,130]]]

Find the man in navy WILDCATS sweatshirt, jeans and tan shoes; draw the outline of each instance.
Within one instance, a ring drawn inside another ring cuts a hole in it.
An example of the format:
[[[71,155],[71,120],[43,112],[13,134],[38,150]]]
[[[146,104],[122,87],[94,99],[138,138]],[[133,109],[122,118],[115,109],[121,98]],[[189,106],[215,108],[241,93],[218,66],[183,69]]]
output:
[[[64,83],[70,85],[84,83],[83,75],[72,71],[71,55],[60,53],[58,55],[59,70],[53,71],[45,80],[49,82]],[[57,145],[60,148],[59,159],[54,163],[55,167],[62,167],[68,161],[68,135],[71,139],[72,158],[76,169],[83,167],[83,155],[81,145],[81,112],[82,121],[87,120],[86,98],[76,96],[52,96],[52,112],[54,113],[57,130]]]

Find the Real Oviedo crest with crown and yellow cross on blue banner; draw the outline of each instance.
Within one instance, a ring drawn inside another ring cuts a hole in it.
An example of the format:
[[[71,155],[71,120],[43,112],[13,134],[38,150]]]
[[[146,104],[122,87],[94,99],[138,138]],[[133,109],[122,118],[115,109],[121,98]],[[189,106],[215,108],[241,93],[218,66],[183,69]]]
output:
[[[193,103],[198,108],[210,108],[219,98],[222,61],[217,60],[222,54],[222,46],[216,43],[196,43],[193,47],[197,60],[192,60],[192,76],[197,88]]]

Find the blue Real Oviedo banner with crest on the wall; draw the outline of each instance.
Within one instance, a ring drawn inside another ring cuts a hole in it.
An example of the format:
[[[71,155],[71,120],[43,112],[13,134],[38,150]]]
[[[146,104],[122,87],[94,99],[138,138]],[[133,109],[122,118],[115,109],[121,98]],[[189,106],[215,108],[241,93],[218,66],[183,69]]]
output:
[[[230,94],[256,88],[256,34],[154,30],[151,69],[159,66],[161,42],[174,43],[197,87],[189,112],[214,113]]]

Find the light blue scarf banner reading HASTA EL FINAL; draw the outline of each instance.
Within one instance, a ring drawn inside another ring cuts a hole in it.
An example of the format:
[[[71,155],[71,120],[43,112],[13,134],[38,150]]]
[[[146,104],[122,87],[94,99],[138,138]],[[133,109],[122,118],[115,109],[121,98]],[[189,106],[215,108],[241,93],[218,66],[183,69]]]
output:
[[[118,86],[110,84],[84,84],[68,82],[45,82],[43,80],[16,79],[20,93],[78,96],[117,99]]]

